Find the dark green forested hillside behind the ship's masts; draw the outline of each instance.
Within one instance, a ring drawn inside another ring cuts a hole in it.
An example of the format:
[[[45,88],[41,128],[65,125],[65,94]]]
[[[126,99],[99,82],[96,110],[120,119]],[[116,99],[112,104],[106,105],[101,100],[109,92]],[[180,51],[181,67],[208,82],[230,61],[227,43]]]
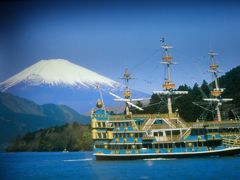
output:
[[[233,98],[232,102],[223,103],[221,106],[224,118],[234,119],[239,114],[240,109],[240,66],[227,72],[219,78],[219,84],[225,89],[223,98]],[[201,85],[195,84],[193,87],[181,85],[178,91],[188,91],[187,95],[177,95],[172,97],[173,111],[179,113],[180,117],[186,121],[213,120],[215,117],[216,104],[204,102],[203,98],[211,98],[210,91],[214,87],[214,82],[208,84],[205,80]],[[198,105],[196,105],[198,104]],[[141,102],[137,103],[142,107]],[[206,109],[201,108],[200,106]],[[164,95],[153,94],[150,103],[139,111],[131,108],[133,113],[167,113],[167,97]]]

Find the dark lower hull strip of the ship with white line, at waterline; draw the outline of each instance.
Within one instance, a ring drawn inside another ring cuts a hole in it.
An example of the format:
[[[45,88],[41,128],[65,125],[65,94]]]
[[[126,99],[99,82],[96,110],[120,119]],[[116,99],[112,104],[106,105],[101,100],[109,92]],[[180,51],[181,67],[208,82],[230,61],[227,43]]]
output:
[[[232,156],[240,154],[240,147],[226,148],[223,150],[211,150],[203,152],[181,152],[181,153],[151,153],[151,154],[94,154],[96,160],[137,160],[156,158],[191,158],[207,156]]]

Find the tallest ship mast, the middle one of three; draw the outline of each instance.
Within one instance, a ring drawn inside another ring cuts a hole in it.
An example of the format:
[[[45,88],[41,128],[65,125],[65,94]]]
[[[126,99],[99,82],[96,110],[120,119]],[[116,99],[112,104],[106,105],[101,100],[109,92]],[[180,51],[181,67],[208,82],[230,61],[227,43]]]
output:
[[[164,56],[162,57],[161,64],[165,64],[167,66],[167,78],[165,79],[164,84],[162,85],[163,91],[153,91],[154,94],[167,95],[167,105],[168,105],[168,114],[172,115],[172,101],[171,96],[180,95],[180,94],[188,94],[188,91],[175,91],[175,84],[171,80],[171,65],[176,64],[172,62],[173,57],[170,56],[169,50],[173,47],[165,43],[165,39],[161,38],[160,42],[162,43],[161,47],[163,48]]]

